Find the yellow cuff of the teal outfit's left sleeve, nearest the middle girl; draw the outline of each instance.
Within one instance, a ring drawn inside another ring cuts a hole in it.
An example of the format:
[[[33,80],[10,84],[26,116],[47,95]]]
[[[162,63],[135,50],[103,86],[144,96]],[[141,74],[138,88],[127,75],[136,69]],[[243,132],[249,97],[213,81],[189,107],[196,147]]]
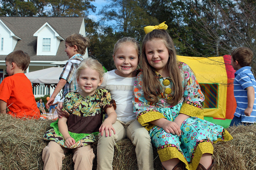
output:
[[[161,119],[161,118],[165,118],[164,115],[162,115],[162,113],[158,112],[158,111],[148,111],[146,113],[142,112],[142,115],[140,115],[138,117],[138,122],[142,125],[145,126],[145,128],[150,131],[150,129],[154,126],[152,125],[150,122],[157,120],[157,119]]]

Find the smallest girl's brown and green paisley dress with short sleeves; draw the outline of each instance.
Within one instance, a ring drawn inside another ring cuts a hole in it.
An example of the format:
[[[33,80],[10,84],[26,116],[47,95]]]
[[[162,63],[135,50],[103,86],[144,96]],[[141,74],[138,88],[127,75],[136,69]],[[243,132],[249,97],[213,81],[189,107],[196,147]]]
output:
[[[64,138],[58,129],[58,120],[51,123],[43,139],[55,141],[60,146],[75,149],[95,142],[102,124],[103,112],[115,104],[108,90],[98,88],[92,96],[81,96],[78,92],[68,93],[65,97],[62,113],[68,118],[68,133],[76,143],[66,147]]]

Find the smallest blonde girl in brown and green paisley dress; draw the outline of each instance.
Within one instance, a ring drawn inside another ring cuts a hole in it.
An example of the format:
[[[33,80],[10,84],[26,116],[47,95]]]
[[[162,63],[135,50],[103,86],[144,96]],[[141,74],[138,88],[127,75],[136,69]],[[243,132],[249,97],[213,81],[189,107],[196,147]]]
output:
[[[92,169],[94,153],[91,144],[95,135],[106,133],[111,136],[116,122],[114,100],[108,90],[98,88],[102,84],[104,70],[94,59],[84,59],[76,70],[78,92],[65,96],[62,113],[64,116],[51,123],[44,135],[50,143],[43,150],[44,169],[61,169],[65,152],[74,153],[74,169]],[[102,123],[103,111],[108,119]]]

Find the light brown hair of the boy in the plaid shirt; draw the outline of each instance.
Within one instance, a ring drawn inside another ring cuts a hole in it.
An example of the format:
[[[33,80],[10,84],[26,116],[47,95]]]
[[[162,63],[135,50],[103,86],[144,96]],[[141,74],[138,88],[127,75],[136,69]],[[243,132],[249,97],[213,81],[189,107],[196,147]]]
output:
[[[86,48],[90,44],[90,39],[88,37],[83,37],[82,34],[73,33],[66,37],[65,41],[68,43],[70,47],[74,47],[76,45],[77,52],[81,55],[84,55],[86,52]]]

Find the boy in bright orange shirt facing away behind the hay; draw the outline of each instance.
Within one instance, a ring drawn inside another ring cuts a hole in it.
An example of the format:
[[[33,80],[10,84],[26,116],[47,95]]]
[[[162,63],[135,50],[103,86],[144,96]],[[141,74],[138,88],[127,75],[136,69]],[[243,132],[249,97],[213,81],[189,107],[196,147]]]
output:
[[[5,58],[8,77],[0,84],[0,113],[6,113],[13,117],[40,117],[40,111],[36,106],[30,80],[24,71],[28,68],[30,57],[21,50],[13,51]]]

